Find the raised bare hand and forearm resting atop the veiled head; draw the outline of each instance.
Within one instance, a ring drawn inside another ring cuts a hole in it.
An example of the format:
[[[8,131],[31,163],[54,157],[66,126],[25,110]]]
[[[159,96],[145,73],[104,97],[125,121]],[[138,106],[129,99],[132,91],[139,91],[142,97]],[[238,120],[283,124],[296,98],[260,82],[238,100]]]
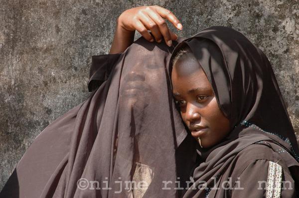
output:
[[[109,53],[124,52],[134,42],[135,30],[149,42],[155,40],[160,43],[163,37],[166,44],[171,46],[172,40],[176,40],[177,36],[168,29],[164,19],[169,20],[178,30],[182,29],[181,23],[171,11],[157,5],[134,7],[124,11],[117,19]]]

